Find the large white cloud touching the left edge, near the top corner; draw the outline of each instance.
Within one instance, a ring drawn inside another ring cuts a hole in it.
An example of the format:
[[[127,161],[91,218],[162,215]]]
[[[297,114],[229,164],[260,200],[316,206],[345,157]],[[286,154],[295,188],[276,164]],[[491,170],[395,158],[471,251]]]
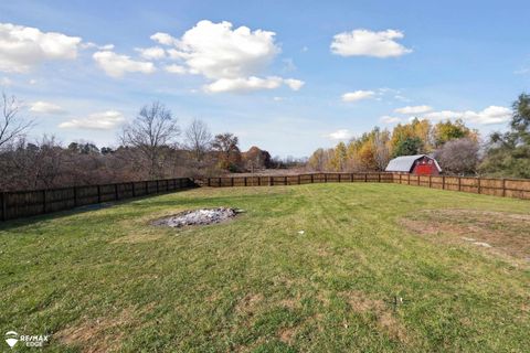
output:
[[[82,39],[0,23],[0,71],[26,73],[44,61],[73,60]]]

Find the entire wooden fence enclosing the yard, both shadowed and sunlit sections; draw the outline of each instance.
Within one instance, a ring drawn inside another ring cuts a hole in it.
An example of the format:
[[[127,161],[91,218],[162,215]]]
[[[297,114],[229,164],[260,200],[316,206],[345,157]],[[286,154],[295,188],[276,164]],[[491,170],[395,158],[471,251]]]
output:
[[[530,179],[431,176],[405,173],[310,173],[271,176],[165,179],[105,185],[0,193],[0,220],[14,220],[77,206],[179,191],[191,186],[275,186],[312,183],[399,183],[477,194],[530,200]]]

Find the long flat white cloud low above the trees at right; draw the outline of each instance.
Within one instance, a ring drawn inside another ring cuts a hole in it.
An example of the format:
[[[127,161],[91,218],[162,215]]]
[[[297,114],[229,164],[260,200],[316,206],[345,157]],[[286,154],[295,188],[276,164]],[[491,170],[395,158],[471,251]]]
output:
[[[479,125],[502,124],[511,119],[512,111],[506,107],[489,106],[480,111],[442,110],[425,114],[423,117],[432,120],[460,118]]]

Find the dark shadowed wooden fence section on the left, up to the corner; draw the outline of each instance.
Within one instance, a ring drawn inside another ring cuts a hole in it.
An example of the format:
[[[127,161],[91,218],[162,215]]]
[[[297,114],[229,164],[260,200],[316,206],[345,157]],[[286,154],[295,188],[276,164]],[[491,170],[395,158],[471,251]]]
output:
[[[0,193],[0,220],[14,220],[77,206],[119,201],[194,186],[190,178],[137,181]]]

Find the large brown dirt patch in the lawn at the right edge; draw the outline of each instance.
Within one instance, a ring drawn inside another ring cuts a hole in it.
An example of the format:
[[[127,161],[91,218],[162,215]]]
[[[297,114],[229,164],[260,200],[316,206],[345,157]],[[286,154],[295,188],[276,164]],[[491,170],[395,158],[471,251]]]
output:
[[[402,218],[401,224],[423,235],[453,235],[477,248],[512,257],[530,257],[530,215],[475,210],[428,210]]]

